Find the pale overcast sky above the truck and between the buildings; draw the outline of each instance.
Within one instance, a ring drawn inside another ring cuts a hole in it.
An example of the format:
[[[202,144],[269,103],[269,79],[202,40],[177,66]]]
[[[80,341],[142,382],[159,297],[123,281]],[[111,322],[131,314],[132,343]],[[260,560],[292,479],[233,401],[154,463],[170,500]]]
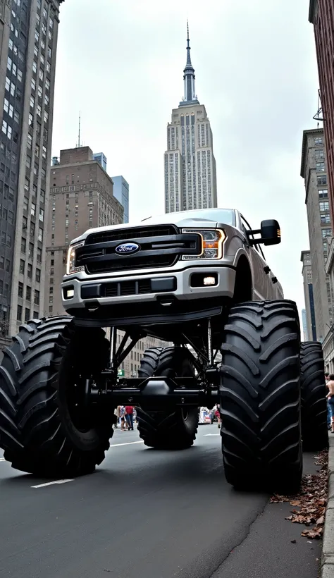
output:
[[[309,248],[302,131],[316,128],[318,74],[308,0],[65,0],[53,154],[82,142],[130,184],[130,220],[163,212],[163,152],[183,97],[187,18],[199,102],[214,134],[218,207],[254,228],[278,219],[265,250],[285,297],[304,307]]]

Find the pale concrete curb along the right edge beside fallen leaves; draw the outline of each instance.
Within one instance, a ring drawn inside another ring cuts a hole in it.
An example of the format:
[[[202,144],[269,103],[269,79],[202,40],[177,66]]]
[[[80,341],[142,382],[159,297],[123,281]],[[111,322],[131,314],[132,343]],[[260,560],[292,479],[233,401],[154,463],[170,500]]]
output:
[[[328,502],[323,529],[321,555],[321,578],[334,578],[334,436],[329,438],[328,448]]]

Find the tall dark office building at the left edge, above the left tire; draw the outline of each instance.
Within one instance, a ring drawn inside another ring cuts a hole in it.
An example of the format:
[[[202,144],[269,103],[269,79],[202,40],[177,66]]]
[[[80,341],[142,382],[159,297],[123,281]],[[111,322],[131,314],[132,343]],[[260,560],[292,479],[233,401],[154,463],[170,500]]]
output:
[[[0,1],[0,332],[44,302],[54,78],[63,0]]]

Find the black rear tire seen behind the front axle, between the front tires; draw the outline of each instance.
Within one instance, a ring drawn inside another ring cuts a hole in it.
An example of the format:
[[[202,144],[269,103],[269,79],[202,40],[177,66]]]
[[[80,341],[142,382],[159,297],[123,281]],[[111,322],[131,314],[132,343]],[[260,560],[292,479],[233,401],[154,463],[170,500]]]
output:
[[[186,348],[151,348],[144,352],[140,377],[192,377],[194,365]],[[185,450],[196,438],[197,407],[176,407],[171,411],[144,411],[137,407],[138,431],[144,444],[159,450]]]

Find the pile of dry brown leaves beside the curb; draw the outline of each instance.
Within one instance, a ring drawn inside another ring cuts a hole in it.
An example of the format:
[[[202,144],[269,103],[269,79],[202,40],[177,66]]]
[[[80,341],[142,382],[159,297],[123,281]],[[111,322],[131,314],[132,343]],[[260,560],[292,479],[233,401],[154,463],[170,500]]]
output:
[[[316,465],[321,469],[316,470],[318,474],[307,474],[303,476],[302,488],[297,496],[271,497],[271,503],[290,502],[294,507],[291,516],[285,519],[292,523],[313,526],[302,531],[302,536],[309,539],[321,538],[323,534],[323,524],[325,522],[325,511],[327,504],[328,489],[328,452],[323,450],[316,457]],[[298,508],[297,510],[295,508]],[[315,525],[314,525],[315,524]]]

